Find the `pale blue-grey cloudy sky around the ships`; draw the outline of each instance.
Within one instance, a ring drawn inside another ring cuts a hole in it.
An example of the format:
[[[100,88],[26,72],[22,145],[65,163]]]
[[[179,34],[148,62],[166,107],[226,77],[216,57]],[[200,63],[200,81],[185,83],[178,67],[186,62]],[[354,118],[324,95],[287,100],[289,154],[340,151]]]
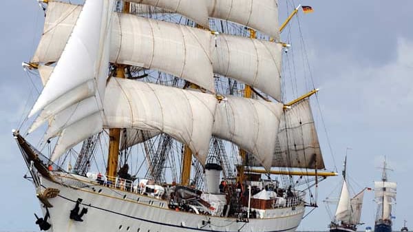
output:
[[[279,3],[285,6],[284,0]],[[413,1],[289,1],[298,3],[314,9],[312,14],[300,12],[299,24],[293,19],[291,27],[302,30],[314,84],[320,88],[316,106],[323,118],[315,114],[315,120],[326,166],[341,171],[347,151],[349,184],[357,192],[379,180],[377,167],[385,156],[394,170],[389,178],[398,183],[393,213],[398,231],[404,219],[413,218]],[[282,10],[280,18],[285,14]],[[19,127],[28,99],[36,94],[21,62],[34,54],[43,12],[34,0],[4,1],[0,22],[0,176],[6,177],[0,191],[0,231],[36,230],[33,213],[39,214],[40,206],[32,184],[23,179],[27,168],[11,130]],[[328,178],[319,184],[319,208],[304,218],[300,231],[328,229],[323,200],[338,194],[340,181]],[[359,230],[374,225],[373,196],[372,191],[365,194],[361,220],[366,224]]]

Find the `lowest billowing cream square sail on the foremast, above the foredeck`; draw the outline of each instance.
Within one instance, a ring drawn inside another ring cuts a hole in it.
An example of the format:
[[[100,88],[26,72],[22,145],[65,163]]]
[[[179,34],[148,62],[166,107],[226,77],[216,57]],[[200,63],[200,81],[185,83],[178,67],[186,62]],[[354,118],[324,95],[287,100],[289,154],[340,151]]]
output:
[[[207,160],[216,99],[212,94],[111,78],[105,94],[105,128],[162,131]]]

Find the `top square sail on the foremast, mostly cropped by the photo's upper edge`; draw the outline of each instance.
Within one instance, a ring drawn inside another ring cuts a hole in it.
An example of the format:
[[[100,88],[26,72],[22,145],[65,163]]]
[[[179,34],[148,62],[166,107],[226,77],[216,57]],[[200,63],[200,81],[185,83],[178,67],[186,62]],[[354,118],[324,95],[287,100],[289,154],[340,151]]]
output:
[[[204,0],[130,0],[182,14],[204,28],[209,28],[207,4]]]

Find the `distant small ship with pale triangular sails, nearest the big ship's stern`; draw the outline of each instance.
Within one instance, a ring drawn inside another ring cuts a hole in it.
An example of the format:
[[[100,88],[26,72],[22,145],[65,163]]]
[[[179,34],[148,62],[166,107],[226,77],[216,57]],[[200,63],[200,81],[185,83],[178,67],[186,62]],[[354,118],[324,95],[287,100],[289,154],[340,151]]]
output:
[[[343,184],[341,185],[335,216],[329,225],[330,232],[353,232],[357,231],[357,226],[362,224],[360,223],[361,209],[363,207],[364,191],[367,188],[362,189],[351,198],[347,184],[348,180],[346,179],[347,156],[343,166]],[[330,200],[326,201],[330,202]]]

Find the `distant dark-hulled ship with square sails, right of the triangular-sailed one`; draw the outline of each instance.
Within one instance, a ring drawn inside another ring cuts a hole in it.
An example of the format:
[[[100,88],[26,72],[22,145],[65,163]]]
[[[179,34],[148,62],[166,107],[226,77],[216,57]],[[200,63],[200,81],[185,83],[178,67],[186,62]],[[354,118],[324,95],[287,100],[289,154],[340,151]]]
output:
[[[387,162],[383,162],[381,181],[374,181],[374,201],[377,204],[377,215],[374,222],[375,232],[392,231],[392,205],[396,203],[396,182],[388,181]]]

